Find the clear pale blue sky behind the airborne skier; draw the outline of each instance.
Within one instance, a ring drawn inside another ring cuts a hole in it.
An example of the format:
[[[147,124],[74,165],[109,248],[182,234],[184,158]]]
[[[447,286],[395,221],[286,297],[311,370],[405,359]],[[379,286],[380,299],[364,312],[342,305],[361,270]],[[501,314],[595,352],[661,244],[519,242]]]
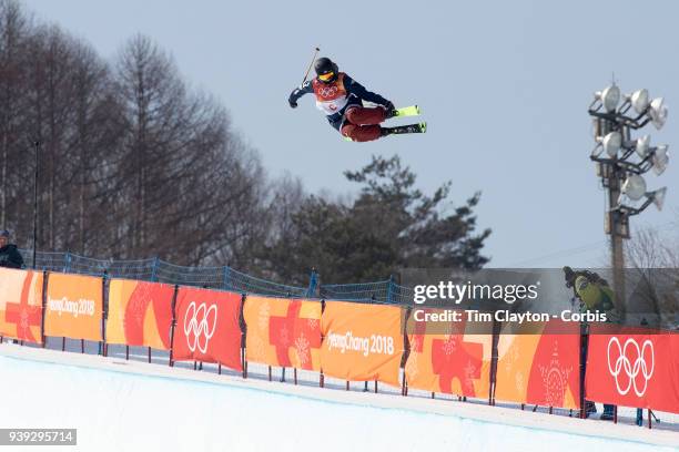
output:
[[[270,174],[298,175],[308,191],[352,193],[342,171],[372,154],[401,155],[427,191],[453,181],[457,203],[482,191],[478,223],[494,229],[486,247],[494,267],[606,263],[587,106],[614,72],[622,92],[665,96],[668,123],[646,133],[670,153],[679,146],[675,2],[24,3],[107,58],[136,32],[153,38],[195,88],[224,102]],[[427,134],[346,143],[310,96],[291,110],[287,95],[315,45],[395,104],[419,104]],[[651,189],[668,186],[667,205],[634,218],[632,232],[671,233],[678,179],[677,162],[647,177]]]

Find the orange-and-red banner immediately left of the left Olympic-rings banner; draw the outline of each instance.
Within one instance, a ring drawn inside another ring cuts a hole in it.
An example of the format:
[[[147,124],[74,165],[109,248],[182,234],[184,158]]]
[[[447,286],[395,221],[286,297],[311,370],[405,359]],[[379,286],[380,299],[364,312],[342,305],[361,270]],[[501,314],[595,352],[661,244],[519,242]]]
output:
[[[170,350],[174,286],[111,279],[107,342]]]

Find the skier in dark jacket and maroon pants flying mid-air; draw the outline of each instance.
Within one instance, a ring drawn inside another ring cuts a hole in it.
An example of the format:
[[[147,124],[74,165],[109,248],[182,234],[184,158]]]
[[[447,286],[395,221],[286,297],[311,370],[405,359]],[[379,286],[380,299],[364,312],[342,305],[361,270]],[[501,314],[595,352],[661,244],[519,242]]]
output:
[[[296,109],[300,97],[314,93],[316,106],[325,113],[331,125],[345,138],[367,142],[391,134],[425,132],[424,123],[396,127],[379,125],[394,116],[418,114],[419,110],[416,106],[408,107],[411,109],[408,112],[405,112],[406,109],[397,110],[391,101],[367,91],[346,73],[340,72],[337,64],[327,58],[316,60],[314,69],[316,78],[305,81],[295,89],[290,94],[287,102],[291,107]],[[364,106],[363,101],[372,102],[377,106]]]

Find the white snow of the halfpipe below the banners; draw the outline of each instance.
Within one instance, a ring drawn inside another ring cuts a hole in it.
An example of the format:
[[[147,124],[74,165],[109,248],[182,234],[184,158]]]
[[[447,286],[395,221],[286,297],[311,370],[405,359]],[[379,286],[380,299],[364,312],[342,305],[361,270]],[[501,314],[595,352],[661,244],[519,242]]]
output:
[[[672,431],[8,343],[0,388],[0,427],[77,428],[79,451],[679,450]]]

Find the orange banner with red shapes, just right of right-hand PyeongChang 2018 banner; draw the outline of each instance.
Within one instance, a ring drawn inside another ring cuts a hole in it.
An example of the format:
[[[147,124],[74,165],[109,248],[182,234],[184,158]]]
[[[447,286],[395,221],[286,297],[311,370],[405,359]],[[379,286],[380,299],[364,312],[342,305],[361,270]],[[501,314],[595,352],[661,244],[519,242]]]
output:
[[[443,309],[414,309],[407,329],[411,352],[405,366],[409,388],[429,392],[487,398],[490,389],[493,323],[425,321],[423,314]],[[447,330],[447,331],[446,331]],[[484,333],[487,331],[486,333]]]

